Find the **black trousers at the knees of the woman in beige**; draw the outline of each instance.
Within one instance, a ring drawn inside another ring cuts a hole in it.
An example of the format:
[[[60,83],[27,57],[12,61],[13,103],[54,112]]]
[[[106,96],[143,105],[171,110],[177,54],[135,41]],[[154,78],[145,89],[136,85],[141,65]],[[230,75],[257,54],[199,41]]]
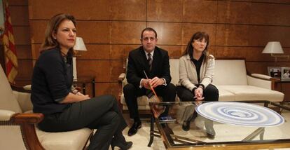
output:
[[[177,95],[181,101],[191,102],[194,100],[193,92],[184,86],[177,86]],[[205,101],[219,101],[219,90],[216,86],[209,84],[207,88],[203,90],[203,97],[205,97]]]

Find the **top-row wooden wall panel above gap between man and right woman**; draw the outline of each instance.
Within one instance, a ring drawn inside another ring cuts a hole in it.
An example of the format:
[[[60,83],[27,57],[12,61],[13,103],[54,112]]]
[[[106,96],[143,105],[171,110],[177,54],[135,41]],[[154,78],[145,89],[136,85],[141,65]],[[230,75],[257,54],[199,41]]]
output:
[[[155,22],[181,22],[182,0],[147,1],[147,20]]]

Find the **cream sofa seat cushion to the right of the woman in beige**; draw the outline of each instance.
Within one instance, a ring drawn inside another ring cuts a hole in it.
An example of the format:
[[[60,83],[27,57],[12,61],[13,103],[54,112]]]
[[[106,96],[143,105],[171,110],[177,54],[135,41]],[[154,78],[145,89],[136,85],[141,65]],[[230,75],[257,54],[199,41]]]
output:
[[[282,102],[284,94],[275,90],[258,88],[256,86],[219,86],[223,90],[235,95],[235,101],[239,100],[268,100],[271,102]]]

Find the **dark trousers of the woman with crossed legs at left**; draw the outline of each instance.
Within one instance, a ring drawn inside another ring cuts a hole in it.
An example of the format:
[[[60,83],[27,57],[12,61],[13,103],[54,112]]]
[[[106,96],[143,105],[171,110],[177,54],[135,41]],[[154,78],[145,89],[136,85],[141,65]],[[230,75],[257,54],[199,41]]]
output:
[[[108,150],[113,136],[122,134],[127,126],[118,109],[118,102],[111,95],[94,97],[72,103],[62,113],[44,116],[39,128],[46,132],[64,132],[80,128],[97,129],[88,149]]]

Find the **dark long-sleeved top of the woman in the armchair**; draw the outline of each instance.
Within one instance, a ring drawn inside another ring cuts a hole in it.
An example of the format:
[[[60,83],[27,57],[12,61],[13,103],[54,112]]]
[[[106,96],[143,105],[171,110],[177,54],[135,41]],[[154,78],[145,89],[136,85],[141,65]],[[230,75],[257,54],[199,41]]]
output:
[[[62,112],[71,104],[60,104],[71,92],[72,57],[63,57],[60,48],[43,51],[32,74],[33,111],[43,114]]]

